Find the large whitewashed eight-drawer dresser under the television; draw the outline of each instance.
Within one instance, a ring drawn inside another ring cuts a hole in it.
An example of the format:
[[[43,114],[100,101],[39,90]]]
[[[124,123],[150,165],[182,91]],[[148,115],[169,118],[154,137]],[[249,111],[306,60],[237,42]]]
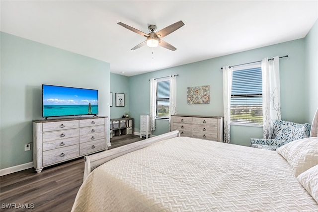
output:
[[[35,170],[107,150],[107,123],[107,117],[33,121]]]

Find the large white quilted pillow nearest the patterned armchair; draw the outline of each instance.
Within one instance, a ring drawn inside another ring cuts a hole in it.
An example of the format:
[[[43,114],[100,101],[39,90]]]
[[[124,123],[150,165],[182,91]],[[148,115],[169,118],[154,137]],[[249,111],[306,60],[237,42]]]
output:
[[[277,148],[276,151],[287,160],[296,177],[311,167],[318,165],[317,137],[291,141]]]

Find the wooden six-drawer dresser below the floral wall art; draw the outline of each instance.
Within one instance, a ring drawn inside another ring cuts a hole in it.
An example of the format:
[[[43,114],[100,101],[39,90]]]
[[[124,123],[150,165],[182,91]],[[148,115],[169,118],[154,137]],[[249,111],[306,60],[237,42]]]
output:
[[[223,142],[223,117],[173,115],[171,129],[181,136]]]

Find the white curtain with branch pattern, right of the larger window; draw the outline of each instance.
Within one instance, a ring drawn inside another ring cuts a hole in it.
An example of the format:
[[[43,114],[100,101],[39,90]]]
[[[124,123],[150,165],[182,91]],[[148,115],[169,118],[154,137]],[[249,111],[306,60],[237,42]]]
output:
[[[279,57],[264,58],[261,64],[263,78],[263,137],[274,139],[275,120],[281,119]]]

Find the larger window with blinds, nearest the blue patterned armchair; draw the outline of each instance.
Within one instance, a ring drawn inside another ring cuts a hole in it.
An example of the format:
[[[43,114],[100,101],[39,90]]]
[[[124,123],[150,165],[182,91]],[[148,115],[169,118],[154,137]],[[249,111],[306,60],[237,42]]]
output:
[[[231,124],[262,125],[262,71],[260,66],[233,71]]]

